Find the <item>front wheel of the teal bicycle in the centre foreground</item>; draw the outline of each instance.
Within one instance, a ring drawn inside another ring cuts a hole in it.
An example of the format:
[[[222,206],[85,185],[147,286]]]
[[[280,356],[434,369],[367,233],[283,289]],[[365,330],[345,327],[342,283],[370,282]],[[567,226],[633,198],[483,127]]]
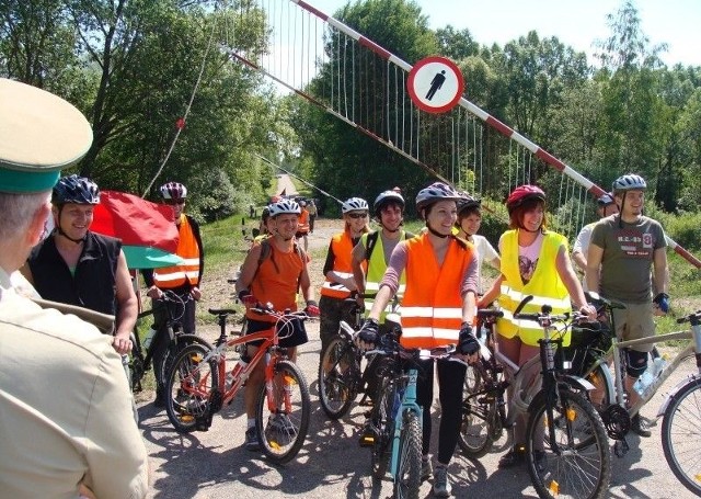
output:
[[[399,438],[399,463],[394,477],[394,497],[398,499],[418,499],[421,438],[422,428],[418,415],[413,410],[404,411]]]

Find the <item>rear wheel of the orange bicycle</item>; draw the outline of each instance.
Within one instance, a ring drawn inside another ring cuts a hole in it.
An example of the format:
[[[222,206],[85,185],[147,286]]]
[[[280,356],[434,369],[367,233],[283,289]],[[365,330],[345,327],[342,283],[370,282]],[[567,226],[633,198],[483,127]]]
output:
[[[181,433],[197,429],[197,419],[207,415],[211,390],[219,384],[216,361],[204,362],[209,351],[197,343],[184,348],[165,379],[165,412]]]

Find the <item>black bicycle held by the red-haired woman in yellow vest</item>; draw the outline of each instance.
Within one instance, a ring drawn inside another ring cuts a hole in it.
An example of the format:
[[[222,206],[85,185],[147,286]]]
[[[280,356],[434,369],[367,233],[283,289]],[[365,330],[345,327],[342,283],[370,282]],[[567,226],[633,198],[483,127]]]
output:
[[[543,305],[539,314],[520,314],[532,299],[527,296],[514,313],[518,320],[537,321],[543,329],[540,355],[521,367],[498,350],[494,324],[499,311],[479,310],[487,320],[487,338],[481,349],[479,386],[463,401],[463,422],[458,443],[470,457],[484,455],[516,417],[528,413],[526,463],[531,483],[541,498],[602,497],[610,483],[610,450],[604,422],[587,398],[594,386],[564,370],[562,336],[583,317],[552,315]],[[561,326],[559,330],[558,325]],[[540,364],[540,376],[526,374]],[[513,396],[504,394],[513,385]],[[508,409],[508,411],[507,411]]]

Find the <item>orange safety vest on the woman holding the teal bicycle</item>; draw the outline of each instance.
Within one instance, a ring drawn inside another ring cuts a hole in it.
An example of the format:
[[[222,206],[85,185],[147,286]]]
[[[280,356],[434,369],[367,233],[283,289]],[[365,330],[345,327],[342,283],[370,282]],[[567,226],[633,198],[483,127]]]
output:
[[[409,239],[405,245],[406,292],[400,343],[422,349],[457,343],[462,325],[460,290],[474,258],[472,246],[451,238],[439,264],[427,234]]]

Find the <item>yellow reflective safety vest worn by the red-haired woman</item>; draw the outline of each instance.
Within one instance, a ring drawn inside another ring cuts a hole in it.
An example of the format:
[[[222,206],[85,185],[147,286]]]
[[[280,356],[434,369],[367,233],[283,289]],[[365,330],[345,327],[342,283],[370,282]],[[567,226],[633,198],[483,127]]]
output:
[[[543,329],[532,320],[514,319],[513,313],[526,296],[533,299],[524,308],[524,314],[539,313],[543,305],[552,307],[552,314],[572,311],[570,295],[560,279],[555,260],[562,246],[567,254],[567,240],[564,236],[548,231],[543,235],[543,242],[538,256],[536,271],[528,284],[524,284],[518,266],[518,230],[508,230],[502,236],[502,283],[498,304],[504,317],[496,322],[497,332],[505,338],[518,337],[530,345],[538,345],[543,337]],[[570,344],[570,333],[563,338],[563,344]]]

